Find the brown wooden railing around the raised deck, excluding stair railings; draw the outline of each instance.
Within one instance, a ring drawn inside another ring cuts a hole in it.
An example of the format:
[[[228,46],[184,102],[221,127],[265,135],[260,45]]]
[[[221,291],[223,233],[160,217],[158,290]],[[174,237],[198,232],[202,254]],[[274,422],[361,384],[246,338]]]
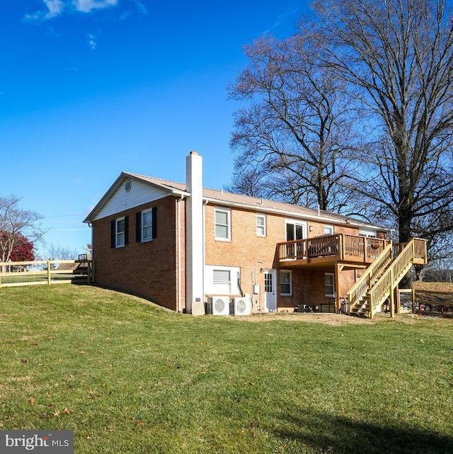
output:
[[[373,261],[389,242],[385,239],[350,234],[324,235],[277,244],[280,260],[303,260],[332,256],[337,260]]]

